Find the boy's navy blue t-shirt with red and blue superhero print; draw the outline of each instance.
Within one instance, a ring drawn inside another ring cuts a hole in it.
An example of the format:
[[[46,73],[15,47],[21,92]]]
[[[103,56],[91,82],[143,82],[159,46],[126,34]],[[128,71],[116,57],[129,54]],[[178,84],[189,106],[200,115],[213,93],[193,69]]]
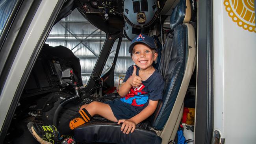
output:
[[[137,66],[136,66],[137,67]],[[134,66],[130,66],[126,71],[126,76],[123,82],[126,82],[132,72]],[[136,75],[139,76],[139,67],[137,67]],[[163,97],[164,81],[158,70],[145,81],[142,81],[140,87],[132,87],[130,92],[120,100],[134,106],[138,111],[142,111],[147,107],[149,100],[161,100]]]

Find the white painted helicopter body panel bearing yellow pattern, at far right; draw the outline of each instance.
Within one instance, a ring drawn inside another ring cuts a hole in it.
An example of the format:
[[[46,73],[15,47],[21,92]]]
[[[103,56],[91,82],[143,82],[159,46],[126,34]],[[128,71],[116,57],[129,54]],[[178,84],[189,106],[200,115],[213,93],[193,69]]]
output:
[[[214,127],[221,130],[226,144],[256,141],[256,33],[253,2],[213,1]],[[250,23],[253,17],[254,27]]]

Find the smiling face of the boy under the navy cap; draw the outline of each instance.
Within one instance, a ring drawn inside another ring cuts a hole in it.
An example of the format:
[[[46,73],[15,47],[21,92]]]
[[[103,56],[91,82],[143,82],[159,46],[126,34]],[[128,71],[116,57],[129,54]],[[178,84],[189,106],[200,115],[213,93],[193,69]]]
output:
[[[147,45],[139,43],[133,48],[132,60],[139,68],[146,70],[151,68],[153,61],[156,60],[157,53],[151,50]]]

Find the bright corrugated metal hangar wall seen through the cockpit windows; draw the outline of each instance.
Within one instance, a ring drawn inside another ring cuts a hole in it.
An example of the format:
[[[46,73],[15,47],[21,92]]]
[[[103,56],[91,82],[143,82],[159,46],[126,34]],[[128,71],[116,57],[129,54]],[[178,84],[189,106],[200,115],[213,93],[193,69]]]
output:
[[[106,33],[93,26],[93,24],[88,22],[88,20],[75,9],[70,15],[53,26],[45,43],[50,46],[65,46],[72,50],[74,55],[80,59],[82,80],[85,86],[91,76],[104,41],[106,41]],[[102,75],[108,72],[111,67],[113,56],[117,48],[117,42],[118,39],[112,46],[111,54],[104,66]],[[134,65],[128,52],[129,45],[130,41],[123,38],[114,72],[115,87],[118,87],[119,80],[124,77],[127,68]]]

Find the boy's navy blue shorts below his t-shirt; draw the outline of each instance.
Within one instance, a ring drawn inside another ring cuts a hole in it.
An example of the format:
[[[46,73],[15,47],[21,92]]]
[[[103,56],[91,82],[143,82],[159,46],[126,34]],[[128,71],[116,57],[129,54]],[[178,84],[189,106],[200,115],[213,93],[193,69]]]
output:
[[[118,98],[104,103],[111,107],[111,110],[117,120],[130,119],[139,113],[139,111],[136,110],[132,105],[124,103]]]

